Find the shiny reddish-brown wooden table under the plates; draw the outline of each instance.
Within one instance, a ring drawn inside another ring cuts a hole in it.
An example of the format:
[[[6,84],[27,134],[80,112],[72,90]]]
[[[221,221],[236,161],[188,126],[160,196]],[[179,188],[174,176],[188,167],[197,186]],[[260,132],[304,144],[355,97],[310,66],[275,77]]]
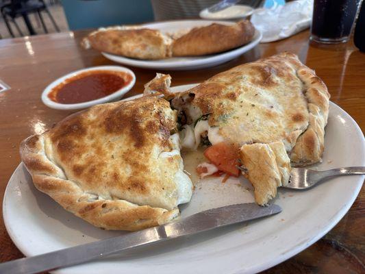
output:
[[[42,90],[54,79],[88,66],[113,64],[97,51],[79,47],[86,32],[68,32],[0,40],[0,79],[12,89],[0,92],[0,199],[20,162],[18,145],[25,137],[43,132],[71,112],[51,110],[42,104]],[[331,101],[347,111],[365,129],[365,53],[352,42],[345,45],[310,45],[309,33],[260,44],[236,60],[199,71],[168,71],[173,85],[201,82],[232,66],[281,51],[297,53],[316,70],[331,93]],[[136,85],[127,94],[142,92],[156,71],[132,68]],[[161,71],[164,73],[164,71]],[[351,142],[351,140],[349,140]],[[325,237],[305,251],[265,273],[365,273],[365,191],[351,210]],[[0,203],[0,210],[2,203]],[[1,215],[2,216],[2,215]],[[23,257],[10,240],[0,217],[0,262]]]

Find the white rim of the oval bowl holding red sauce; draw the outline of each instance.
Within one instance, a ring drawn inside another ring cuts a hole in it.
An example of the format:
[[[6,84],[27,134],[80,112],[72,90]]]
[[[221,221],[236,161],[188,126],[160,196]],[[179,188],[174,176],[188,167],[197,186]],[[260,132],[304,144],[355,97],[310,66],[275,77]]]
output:
[[[124,86],[120,90],[116,90],[116,92],[113,92],[111,95],[101,97],[99,99],[95,99],[92,101],[86,101],[83,103],[57,103],[55,101],[52,101],[49,99],[48,95],[49,92],[53,90],[56,86],[64,82],[66,79],[75,77],[76,75],[79,75],[80,73],[84,73],[86,71],[121,71],[125,72],[131,75],[132,79],[127,86]],[[51,84],[45,88],[42,92],[42,102],[47,105],[49,108],[54,108],[55,110],[80,110],[82,108],[89,108],[92,105],[97,105],[99,103],[107,103],[110,101],[116,101],[117,99],[120,99],[125,93],[127,93],[131,88],[133,88],[134,84],[136,83],[136,75],[134,75],[133,71],[130,69],[125,68],[124,66],[92,66],[88,69],[80,69],[79,71],[73,71],[72,73],[68,73],[57,80],[53,81]]]

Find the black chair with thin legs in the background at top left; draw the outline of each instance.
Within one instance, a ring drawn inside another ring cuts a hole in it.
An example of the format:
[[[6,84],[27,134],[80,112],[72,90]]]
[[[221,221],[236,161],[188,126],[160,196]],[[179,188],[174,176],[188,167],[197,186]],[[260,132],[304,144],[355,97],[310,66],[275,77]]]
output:
[[[10,18],[12,23],[14,23],[19,34],[21,34],[21,36],[23,36],[21,29],[18,27],[18,24],[15,21],[15,18],[18,16],[23,17],[24,23],[25,23],[25,25],[27,25],[29,34],[30,35],[36,34],[36,32],[34,31],[34,28],[32,26],[32,23],[29,20],[29,16],[28,16],[28,14],[32,14],[32,13],[38,14],[45,33],[48,33],[47,27],[45,25],[45,21],[43,21],[43,17],[41,14],[42,11],[47,12],[49,18],[51,19],[51,22],[53,23],[53,26],[55,27],[57,32],[60,32],[58,25],[55,23],[55,20],[53,19],[51,12],[49,12],[49,10],[47,9],[47,5],[45,4],[45,2],[43,0],[11,0],[10,3],[7,3],[1,7],[1,15],[3,16],[5,25],[6,25],[6,27],[8,27],[8,31],[12,37],[14,37],[14,33],[12,32],[12,28],[10,27],[8,18]]]

